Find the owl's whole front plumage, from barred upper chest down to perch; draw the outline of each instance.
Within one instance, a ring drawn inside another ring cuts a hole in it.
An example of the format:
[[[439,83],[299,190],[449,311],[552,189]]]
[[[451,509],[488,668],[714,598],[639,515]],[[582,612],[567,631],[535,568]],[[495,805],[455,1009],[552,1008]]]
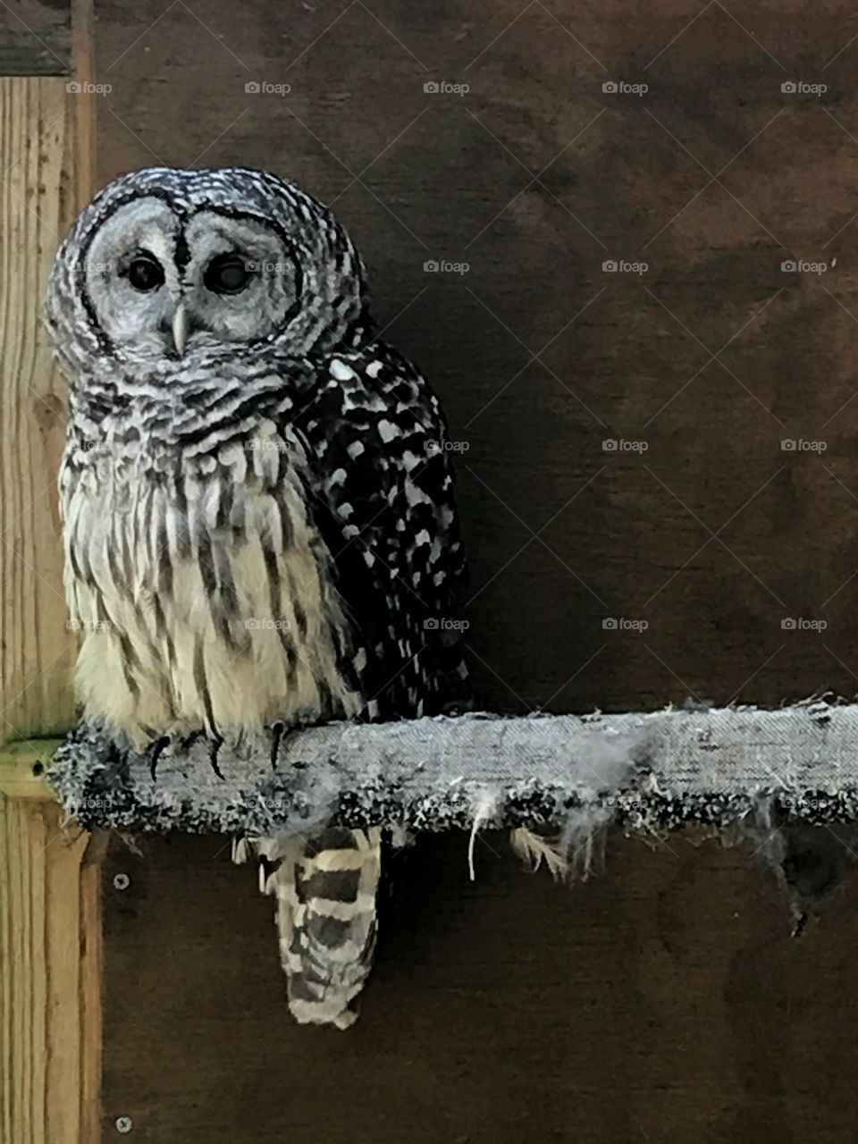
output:
[[[86,717],[140,749],[356,714],[356,649],[288,427],[209,411],[200,428],[151,392],[97,426],[79,415],[61,496]]]

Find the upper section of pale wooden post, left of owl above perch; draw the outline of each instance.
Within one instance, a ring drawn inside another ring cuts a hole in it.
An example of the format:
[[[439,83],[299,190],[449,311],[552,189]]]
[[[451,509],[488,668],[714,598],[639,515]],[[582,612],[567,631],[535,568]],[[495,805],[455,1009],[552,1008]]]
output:
[[[56,472],[65,384],[40,326],[50,261],[74,209],[74,96],[0,80],[0,739],[73,721]]]

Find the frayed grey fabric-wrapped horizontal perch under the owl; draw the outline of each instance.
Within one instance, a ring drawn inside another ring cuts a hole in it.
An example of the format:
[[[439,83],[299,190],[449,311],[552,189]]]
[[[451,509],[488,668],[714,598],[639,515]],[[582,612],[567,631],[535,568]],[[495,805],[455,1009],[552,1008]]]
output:
[[[76,731],[50,780],[84,826],[271,834],[321,824],[563,826],[605,811],[634,829],[693,824],[837,823],[858,818],[858,704],[811,700],[651,714],[470,714],[388,724],[335,723],[270,741],[145,757]]]

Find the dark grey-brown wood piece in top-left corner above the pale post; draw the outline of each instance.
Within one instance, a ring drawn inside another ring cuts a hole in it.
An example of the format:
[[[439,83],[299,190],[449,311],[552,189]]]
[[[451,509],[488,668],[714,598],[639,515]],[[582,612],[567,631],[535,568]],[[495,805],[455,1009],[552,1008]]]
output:
[[[72,0],[8,0],[0,7],[0,76],[67,76]]]

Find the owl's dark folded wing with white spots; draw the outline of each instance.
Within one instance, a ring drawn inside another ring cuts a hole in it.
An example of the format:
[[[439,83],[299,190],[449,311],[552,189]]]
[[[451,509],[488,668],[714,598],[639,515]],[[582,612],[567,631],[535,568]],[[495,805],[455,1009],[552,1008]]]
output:
[[[316,363],[291,427],[307,499],[365,661],[365,717],[467,704],[456,594],[466,583],[446,423],[419,372],[381,342]]]

